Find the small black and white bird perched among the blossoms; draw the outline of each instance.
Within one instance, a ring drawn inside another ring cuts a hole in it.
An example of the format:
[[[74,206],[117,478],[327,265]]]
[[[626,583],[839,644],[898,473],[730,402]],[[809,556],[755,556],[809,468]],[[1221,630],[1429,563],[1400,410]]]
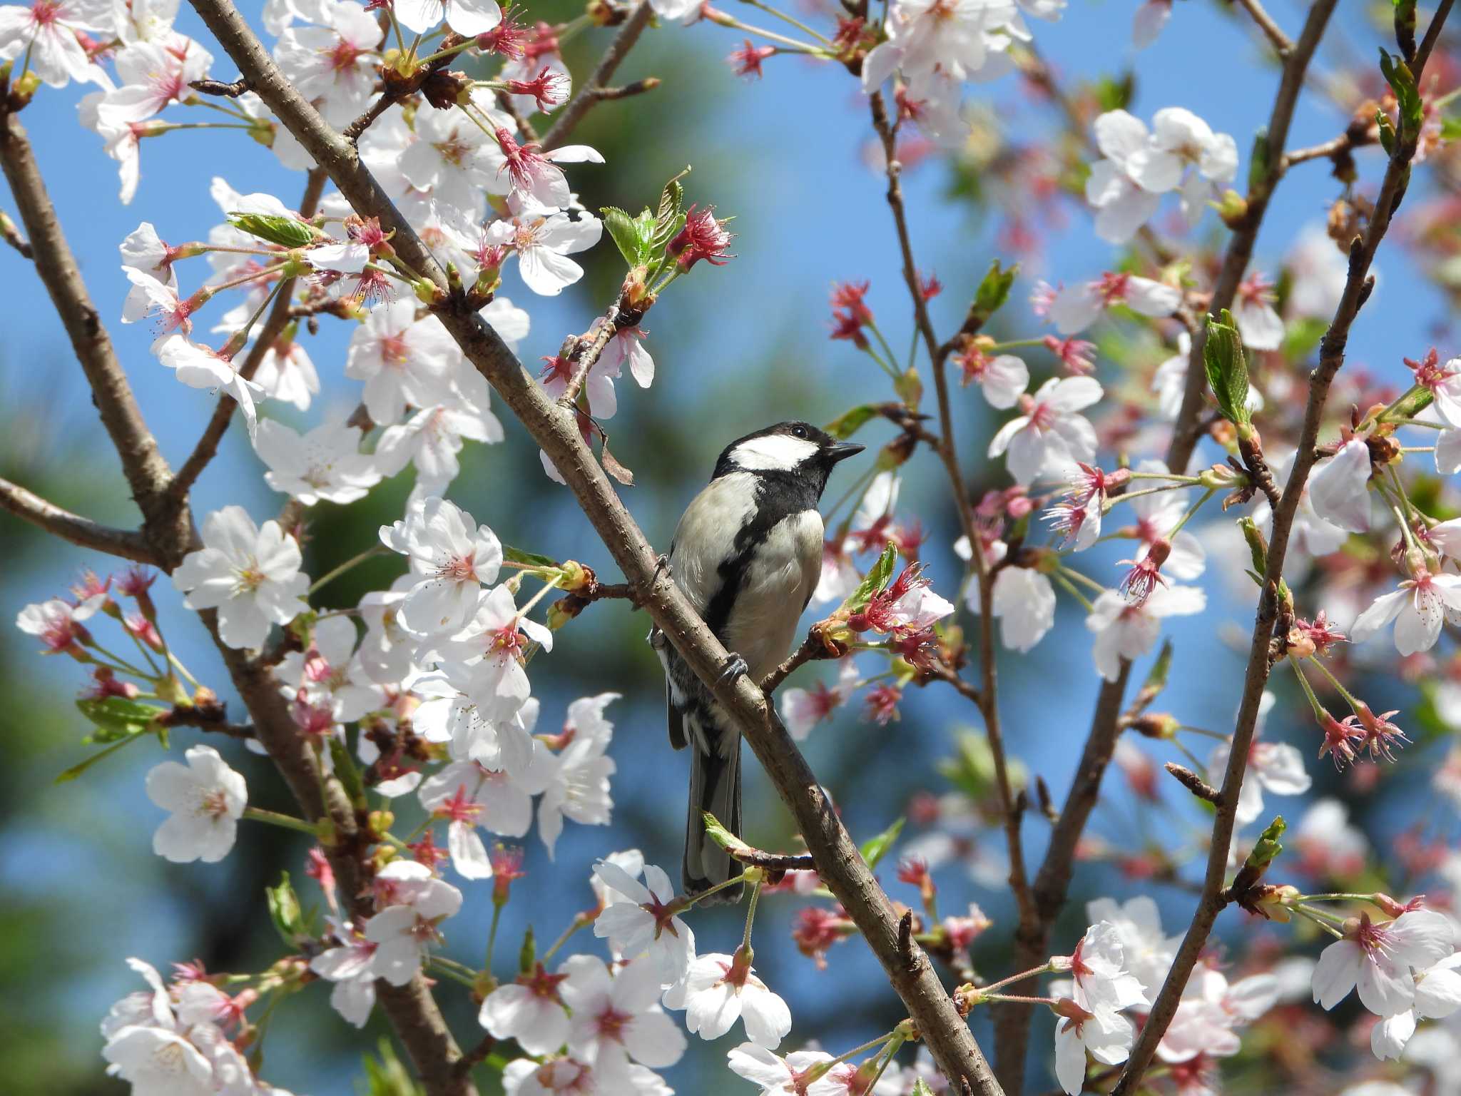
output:
[[[761,681],[789,653],[821,576],[817,504],[833,468],[861,452],[806,422],[777,422],[726,446],[679,519],[669,573],[732,652],[728,675]],[[665,637],[652,633],[650,642],[665,665],[669,744],[694,748],[682,878],[685,893],[698,894],[735,874],[706,834],[703,813],[741,833],[741,734]],[[722,897],[736,902],[741,890],[714,896]]]

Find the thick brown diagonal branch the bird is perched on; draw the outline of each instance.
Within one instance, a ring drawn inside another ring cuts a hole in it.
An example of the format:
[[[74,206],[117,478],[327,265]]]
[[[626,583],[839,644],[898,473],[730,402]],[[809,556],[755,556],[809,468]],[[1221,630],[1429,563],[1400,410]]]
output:
[[[191,3],[244,76],[253,80],[264,104],[316,162],[330,172],[355,210],[364,216],[381,218],[381,224],[396,232],[392,243],[402,259],[441,288],[444,301],[437,305],[437,316],[468,359],[487,377],[558,468],[625,579],[640,590],[644,608],[660,631],[735,719],[790,810],[817,862],[818,874],[862,929],[863,938],[882,963],[890,983],[907,1007],[939,1068],[951,1078],[969,1080],[983,1096],[1001,1093],[999,1083],[993,1078],[969,1026],[958,1016],[932,966],[922,962],[910,970],[899,954],[897,918],[887,894],[868,869],[766,696],[745,678],[729,682],[720,680],[726,659],[725,647],[695,614],[679,587],[657,567],[657,552],[644,539],[603,469],[583,443],[573,412],[562,411],[543,395],[497,332],[463,297],[446,294],[446,279],[435,259],[399,215],[370,171],[361,165],[354,146],[335,133],[289,85],[238,10],[228,0],[191,0]],[[633,44],[633,37],[643,29],[643,22],[647,19],[646,6],[641,4],[615,39],[617,47],[624,42],[618,50],[619,54]],[[631,31],[630,28],[636,25],[637,29]],[[611,53],[614,51],[611,48]],[[457,1057],[459,1054],[453,1054],[451,1061]]]

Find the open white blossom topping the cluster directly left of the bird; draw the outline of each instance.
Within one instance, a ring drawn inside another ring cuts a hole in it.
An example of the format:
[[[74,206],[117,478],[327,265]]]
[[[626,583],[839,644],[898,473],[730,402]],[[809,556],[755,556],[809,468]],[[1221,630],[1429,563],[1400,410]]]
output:
[[[485,525],[444,498],[412,507],[403,522],[381,526],[381,542],[411,560],[416,585],[397,609],[397,620],[419,636],[450,636],[478,611],[484,583],[497,580],[503,545]],[[508,595],[510,598],[510,595]]]

